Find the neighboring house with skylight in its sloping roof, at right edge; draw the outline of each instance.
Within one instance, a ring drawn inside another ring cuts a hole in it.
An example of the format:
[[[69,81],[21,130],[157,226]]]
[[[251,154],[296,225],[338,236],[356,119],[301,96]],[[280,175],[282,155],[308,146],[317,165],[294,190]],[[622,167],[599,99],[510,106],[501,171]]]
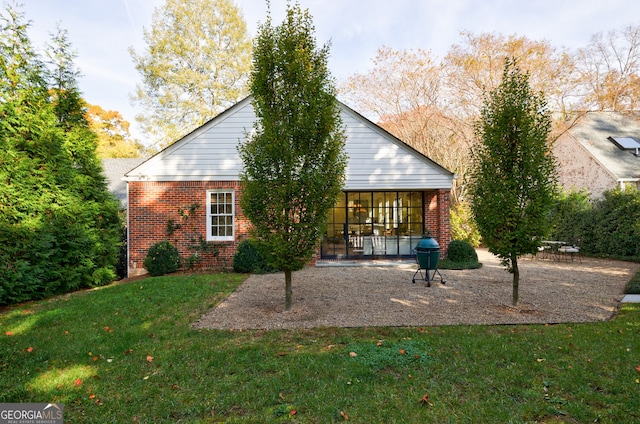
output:
[[[640,115],[586,112],[553,145],[560,184],[592,198],[640,182]]]

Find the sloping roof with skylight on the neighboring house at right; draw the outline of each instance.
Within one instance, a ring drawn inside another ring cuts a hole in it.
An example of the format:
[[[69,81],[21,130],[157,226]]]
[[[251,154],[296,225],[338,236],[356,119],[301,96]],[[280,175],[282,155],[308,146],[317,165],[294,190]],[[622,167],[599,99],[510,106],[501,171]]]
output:
[[[640,115],[620,112],[587,112],[570,135],[617,179],[640,177],[640,156],[618,147],[610,138],[633,137],[640,141]]]

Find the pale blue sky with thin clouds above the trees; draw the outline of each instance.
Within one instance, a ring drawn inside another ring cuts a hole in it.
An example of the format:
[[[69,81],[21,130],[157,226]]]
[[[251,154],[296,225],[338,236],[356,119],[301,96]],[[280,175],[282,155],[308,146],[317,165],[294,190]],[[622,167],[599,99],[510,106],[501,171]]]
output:
[[[164,0],[9,0],[22,4],[29,36],[43,48],[59,25],[68,31],[88,103],[120,112],[132,134],[146,141],[135,123],[143,110],[130,102],[141,81],[129,49],[145,48],[143,28]],[[188,1],[188,0],[187,0]],[[3,0],[5,5],[7,0]],[[338,83],[372,67],[377,50],[431,50],[443,58],[462,41],[461,31],[526,36],[558,48],[585,47],[599,32],[640,24],[638,0],[298,0],[309,9],[318,45],[331,43],[329,65]],[[266,0],[236,0],[250,36],[267,16]],[[271,0],[274,25],[286,0]],[[3,8],[4,9],[4,8]]]

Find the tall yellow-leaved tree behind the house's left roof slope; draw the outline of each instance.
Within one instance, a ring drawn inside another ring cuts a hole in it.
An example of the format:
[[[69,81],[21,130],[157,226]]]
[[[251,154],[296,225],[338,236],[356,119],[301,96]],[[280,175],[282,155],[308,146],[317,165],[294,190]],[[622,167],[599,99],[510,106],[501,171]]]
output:
[[[246,95],[251,41],[233,0],[166,0],[144,30],[144,53],[130,54],[142,77],[136,117],[166,146]]]

